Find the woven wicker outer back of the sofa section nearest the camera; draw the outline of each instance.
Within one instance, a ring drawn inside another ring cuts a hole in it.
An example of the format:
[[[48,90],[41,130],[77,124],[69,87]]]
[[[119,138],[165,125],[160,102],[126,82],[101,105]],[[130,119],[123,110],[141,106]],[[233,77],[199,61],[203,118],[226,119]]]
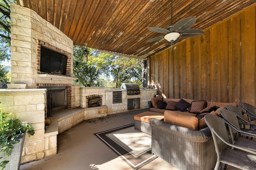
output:
[[[152,118],[152,153],[180,170],[212,170],[217,155],[208,127],[193,131]]]

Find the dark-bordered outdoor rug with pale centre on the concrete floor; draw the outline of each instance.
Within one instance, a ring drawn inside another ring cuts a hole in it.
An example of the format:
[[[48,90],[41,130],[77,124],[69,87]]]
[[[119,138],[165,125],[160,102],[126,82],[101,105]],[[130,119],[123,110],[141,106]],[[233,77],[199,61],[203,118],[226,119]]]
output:
[[[135,170],[158,157],[151,153],[151,136],[135,130],[134,123],[94,135]]]

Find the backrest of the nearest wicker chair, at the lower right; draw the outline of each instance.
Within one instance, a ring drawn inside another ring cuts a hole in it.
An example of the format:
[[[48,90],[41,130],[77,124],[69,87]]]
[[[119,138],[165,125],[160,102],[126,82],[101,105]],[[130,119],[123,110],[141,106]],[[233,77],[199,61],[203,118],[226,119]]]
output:
[[[206,114],[204,116],[205,122],[210,128],[212,132],[212,138],[214,141],[215,150],[218,158],[220,157],[220,152],[228,147],[226,143],[224,143],[220,137],[229,143],[228,132],[226,130],[225,120],[221,117],[212,114]],[[218,137],[218,135],[220,137]]]

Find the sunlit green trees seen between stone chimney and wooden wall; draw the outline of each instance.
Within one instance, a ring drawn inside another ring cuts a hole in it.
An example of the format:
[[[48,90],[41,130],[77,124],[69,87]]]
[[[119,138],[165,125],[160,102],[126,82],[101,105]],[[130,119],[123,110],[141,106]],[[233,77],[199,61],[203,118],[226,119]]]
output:
[[[74,83],[105,88],[118,88],[123,82],[142,84],[140,59],[98,53],[76,45],[73,56],[73,75],[78,78],[78,82]]]

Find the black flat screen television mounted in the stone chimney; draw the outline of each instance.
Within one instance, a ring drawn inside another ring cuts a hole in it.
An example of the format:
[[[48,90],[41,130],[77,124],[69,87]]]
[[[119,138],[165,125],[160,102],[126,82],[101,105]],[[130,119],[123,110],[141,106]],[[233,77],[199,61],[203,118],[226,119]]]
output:
[[[68,56],[41,46],[40,72],[66,75]]]

